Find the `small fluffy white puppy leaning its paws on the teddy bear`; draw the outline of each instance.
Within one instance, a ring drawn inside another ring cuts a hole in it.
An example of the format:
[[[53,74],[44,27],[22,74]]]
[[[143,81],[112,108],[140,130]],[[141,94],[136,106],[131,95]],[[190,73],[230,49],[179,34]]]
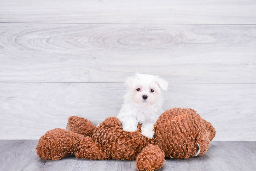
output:
[[[163,113],[162,90],[167,90],[168,82],[158,76],[136,73],[127,78],[125,84],[128,86],[127,93],[117,115],[123,130],[136,131],[138,123],[141,123],[141,134],[151,139],[154,124]]]

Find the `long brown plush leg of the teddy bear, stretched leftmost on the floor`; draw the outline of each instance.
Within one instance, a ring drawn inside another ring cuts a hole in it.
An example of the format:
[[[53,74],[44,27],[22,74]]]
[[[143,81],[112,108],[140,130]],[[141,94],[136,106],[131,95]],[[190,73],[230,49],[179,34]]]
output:
[[[84,159],[102,159],[103,152],[91,137],[76,134],[65,129],[56,128],[47,131],[37,143],[39,158],[59,160],[68,154]]]

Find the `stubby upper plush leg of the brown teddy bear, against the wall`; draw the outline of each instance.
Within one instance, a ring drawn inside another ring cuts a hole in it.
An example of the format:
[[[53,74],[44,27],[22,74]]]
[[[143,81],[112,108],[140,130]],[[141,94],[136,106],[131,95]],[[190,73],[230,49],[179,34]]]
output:
[[[91,121],[78,116],[68,117],[66,130],[82,134],[84,136],[92,136],[95,126]]]

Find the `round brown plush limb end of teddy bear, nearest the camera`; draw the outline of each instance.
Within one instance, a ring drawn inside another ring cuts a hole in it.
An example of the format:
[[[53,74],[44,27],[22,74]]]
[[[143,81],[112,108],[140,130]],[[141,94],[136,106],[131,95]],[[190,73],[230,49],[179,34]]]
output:
[[[136,166],[138,170],[157,170],[163,166],[164,162],[164,151],[158,146],[149,144],[137,156]]]

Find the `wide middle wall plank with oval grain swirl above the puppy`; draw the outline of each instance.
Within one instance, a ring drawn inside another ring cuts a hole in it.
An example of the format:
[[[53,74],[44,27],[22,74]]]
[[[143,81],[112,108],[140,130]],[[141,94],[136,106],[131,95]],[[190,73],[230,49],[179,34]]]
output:
[[[0,23],[0,41],[0,81],[256,83],[256,25]]]

